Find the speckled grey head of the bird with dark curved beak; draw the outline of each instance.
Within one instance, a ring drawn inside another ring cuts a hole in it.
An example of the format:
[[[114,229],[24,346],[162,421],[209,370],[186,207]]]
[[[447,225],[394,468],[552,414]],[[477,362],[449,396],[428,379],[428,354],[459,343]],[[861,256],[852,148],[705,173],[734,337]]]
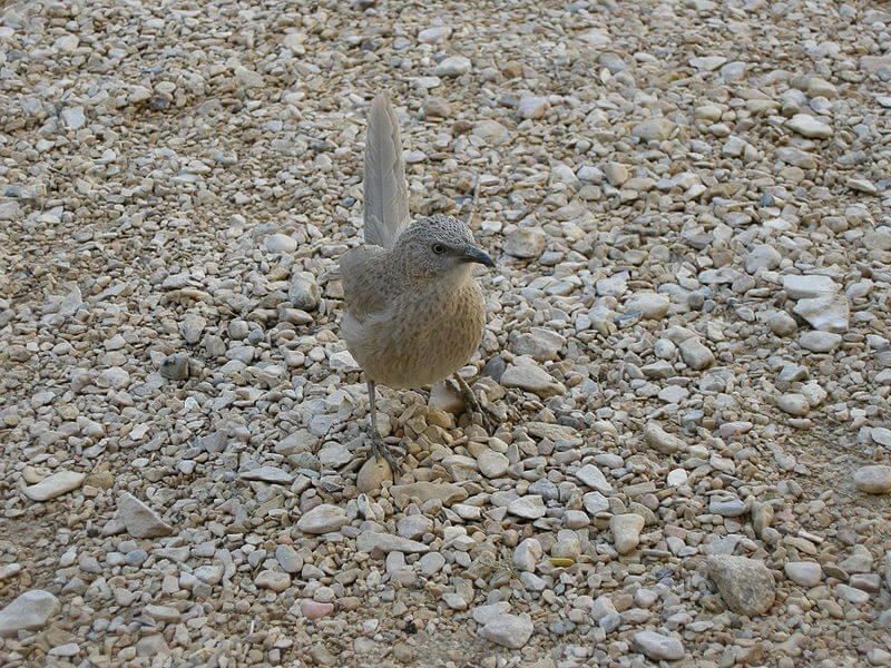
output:
[[[435,214],[419,218],[396,239],[393,250],[418,278],[469,274],[474,264],[495,262],[473,244],[473,235],[458,218]]]

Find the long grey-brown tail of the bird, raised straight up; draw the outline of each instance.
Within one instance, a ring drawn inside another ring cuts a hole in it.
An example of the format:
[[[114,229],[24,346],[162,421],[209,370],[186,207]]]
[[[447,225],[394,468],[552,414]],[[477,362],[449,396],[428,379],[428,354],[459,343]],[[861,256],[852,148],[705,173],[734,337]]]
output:
[[[363,179],[365,243],[392,248],[409,223],[409,189],[399,125],[385,92],[371,105]]]

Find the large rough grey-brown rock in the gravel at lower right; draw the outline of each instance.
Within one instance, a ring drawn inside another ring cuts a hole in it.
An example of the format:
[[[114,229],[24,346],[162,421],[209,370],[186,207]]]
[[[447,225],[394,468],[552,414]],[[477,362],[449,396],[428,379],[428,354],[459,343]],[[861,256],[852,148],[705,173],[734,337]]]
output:
[[[712,554],[707,562],[708,573],[731,610],[737,615],[755,617],[771,608],[776,583],[763,561],[731,554]]]

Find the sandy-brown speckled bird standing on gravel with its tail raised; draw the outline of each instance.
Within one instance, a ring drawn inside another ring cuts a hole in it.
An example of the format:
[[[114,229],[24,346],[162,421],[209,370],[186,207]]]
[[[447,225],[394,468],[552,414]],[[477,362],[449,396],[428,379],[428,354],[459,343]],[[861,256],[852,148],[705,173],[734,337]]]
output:
[[[341,335],[365,375],[372,450],[399,470],[399,453],[378,429],[378,384],[412,389],[452,375],[466,405],[491,429],[457,371],[479,347],[486,326],[486,302],[472,268],[496,264],[459,218],[411,218],[399,124],[385,91],[369,115],[362,213],[364,244],[340,261]]]

